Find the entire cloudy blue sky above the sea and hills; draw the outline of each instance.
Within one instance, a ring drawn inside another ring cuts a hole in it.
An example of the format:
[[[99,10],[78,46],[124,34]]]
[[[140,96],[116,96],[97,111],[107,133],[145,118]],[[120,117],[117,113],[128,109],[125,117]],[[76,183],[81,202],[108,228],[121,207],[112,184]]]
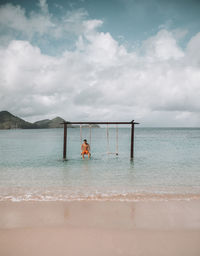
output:
[[[200,0],[0,4],[0,110],[200,126]]]

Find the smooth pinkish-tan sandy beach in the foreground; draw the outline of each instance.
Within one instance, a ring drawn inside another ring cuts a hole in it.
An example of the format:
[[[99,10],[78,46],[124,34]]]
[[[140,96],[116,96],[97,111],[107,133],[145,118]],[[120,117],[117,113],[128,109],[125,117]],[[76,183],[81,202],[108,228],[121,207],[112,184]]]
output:
[[[0,255],[200,255],[200,201],[0,202]]]

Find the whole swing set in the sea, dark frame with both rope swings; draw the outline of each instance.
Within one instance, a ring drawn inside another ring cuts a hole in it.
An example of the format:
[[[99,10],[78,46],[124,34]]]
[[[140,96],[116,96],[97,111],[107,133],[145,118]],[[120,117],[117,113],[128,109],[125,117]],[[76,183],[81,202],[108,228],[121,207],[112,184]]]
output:
[[[83,125],[89,125],[89,144],[92,142],[92,125],[106,125],[106,138],[107,138],[107,154],[115,154],[118,156],[119,152],[119,132],[118,125],[126,124],[131,125],[131,149],[130,149],[130,158],[133,159],[134,155],[134,128],[135,124],[139,124],[132,120],[131,122],[63,122],[64,124],[64,138],[63,138],[63,160],[67,160],[67,128],[68,125],[80,125],[80,143],[82,144],[82,128]],[[115,137],[116,137],[116,150],[115,152],[110,152],[110,135],[109,135],[109,125],[116,125]]]

